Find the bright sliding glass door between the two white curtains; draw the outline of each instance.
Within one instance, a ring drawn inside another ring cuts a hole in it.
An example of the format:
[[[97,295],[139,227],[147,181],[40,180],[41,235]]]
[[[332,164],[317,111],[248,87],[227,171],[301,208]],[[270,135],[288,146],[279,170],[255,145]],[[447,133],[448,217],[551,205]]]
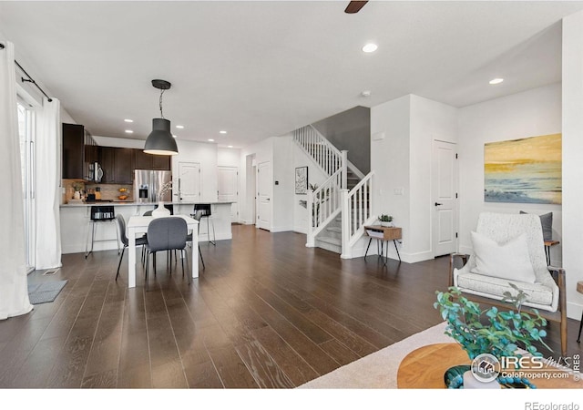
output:
[[[35,270],[35,111],[18,102],[18,136],[25,210],[25,249],[28,272]]]

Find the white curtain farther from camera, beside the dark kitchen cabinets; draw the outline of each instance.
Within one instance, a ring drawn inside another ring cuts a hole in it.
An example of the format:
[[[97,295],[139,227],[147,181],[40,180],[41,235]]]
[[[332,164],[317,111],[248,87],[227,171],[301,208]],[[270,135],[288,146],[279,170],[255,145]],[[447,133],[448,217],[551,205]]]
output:
[[[45,98],[43,109],[36,114],[36,269],[61,266],[60,125],[59,100]]]

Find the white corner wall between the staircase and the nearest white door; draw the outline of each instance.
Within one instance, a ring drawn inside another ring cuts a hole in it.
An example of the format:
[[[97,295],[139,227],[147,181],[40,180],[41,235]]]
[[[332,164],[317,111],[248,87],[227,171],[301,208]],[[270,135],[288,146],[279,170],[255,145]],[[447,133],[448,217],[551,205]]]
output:
[[[414,95],[371,108],[374,213],[393,215],[403,229],[403,261],[433,258],[432,143],[456,141],[456,116],[456,108]],[[384,139],[375,140],[379,133]],[[389,256],[397,257],[391,247]]]

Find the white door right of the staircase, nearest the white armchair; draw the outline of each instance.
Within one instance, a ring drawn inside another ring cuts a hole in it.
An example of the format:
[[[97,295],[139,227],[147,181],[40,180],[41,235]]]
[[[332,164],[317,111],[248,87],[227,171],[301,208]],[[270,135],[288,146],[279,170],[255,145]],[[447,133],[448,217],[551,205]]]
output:
[[[456,146],[435,140],[432,161],[434,256],[457,251]]]

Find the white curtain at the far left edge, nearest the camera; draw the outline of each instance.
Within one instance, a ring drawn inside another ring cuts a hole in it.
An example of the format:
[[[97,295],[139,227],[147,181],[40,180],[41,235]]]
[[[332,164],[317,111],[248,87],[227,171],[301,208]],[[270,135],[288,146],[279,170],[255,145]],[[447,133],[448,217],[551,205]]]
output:
[[[16,111],[15,50],[0,41],[0,320],[33,309],[28,299],[25,216],[18,114]]]

